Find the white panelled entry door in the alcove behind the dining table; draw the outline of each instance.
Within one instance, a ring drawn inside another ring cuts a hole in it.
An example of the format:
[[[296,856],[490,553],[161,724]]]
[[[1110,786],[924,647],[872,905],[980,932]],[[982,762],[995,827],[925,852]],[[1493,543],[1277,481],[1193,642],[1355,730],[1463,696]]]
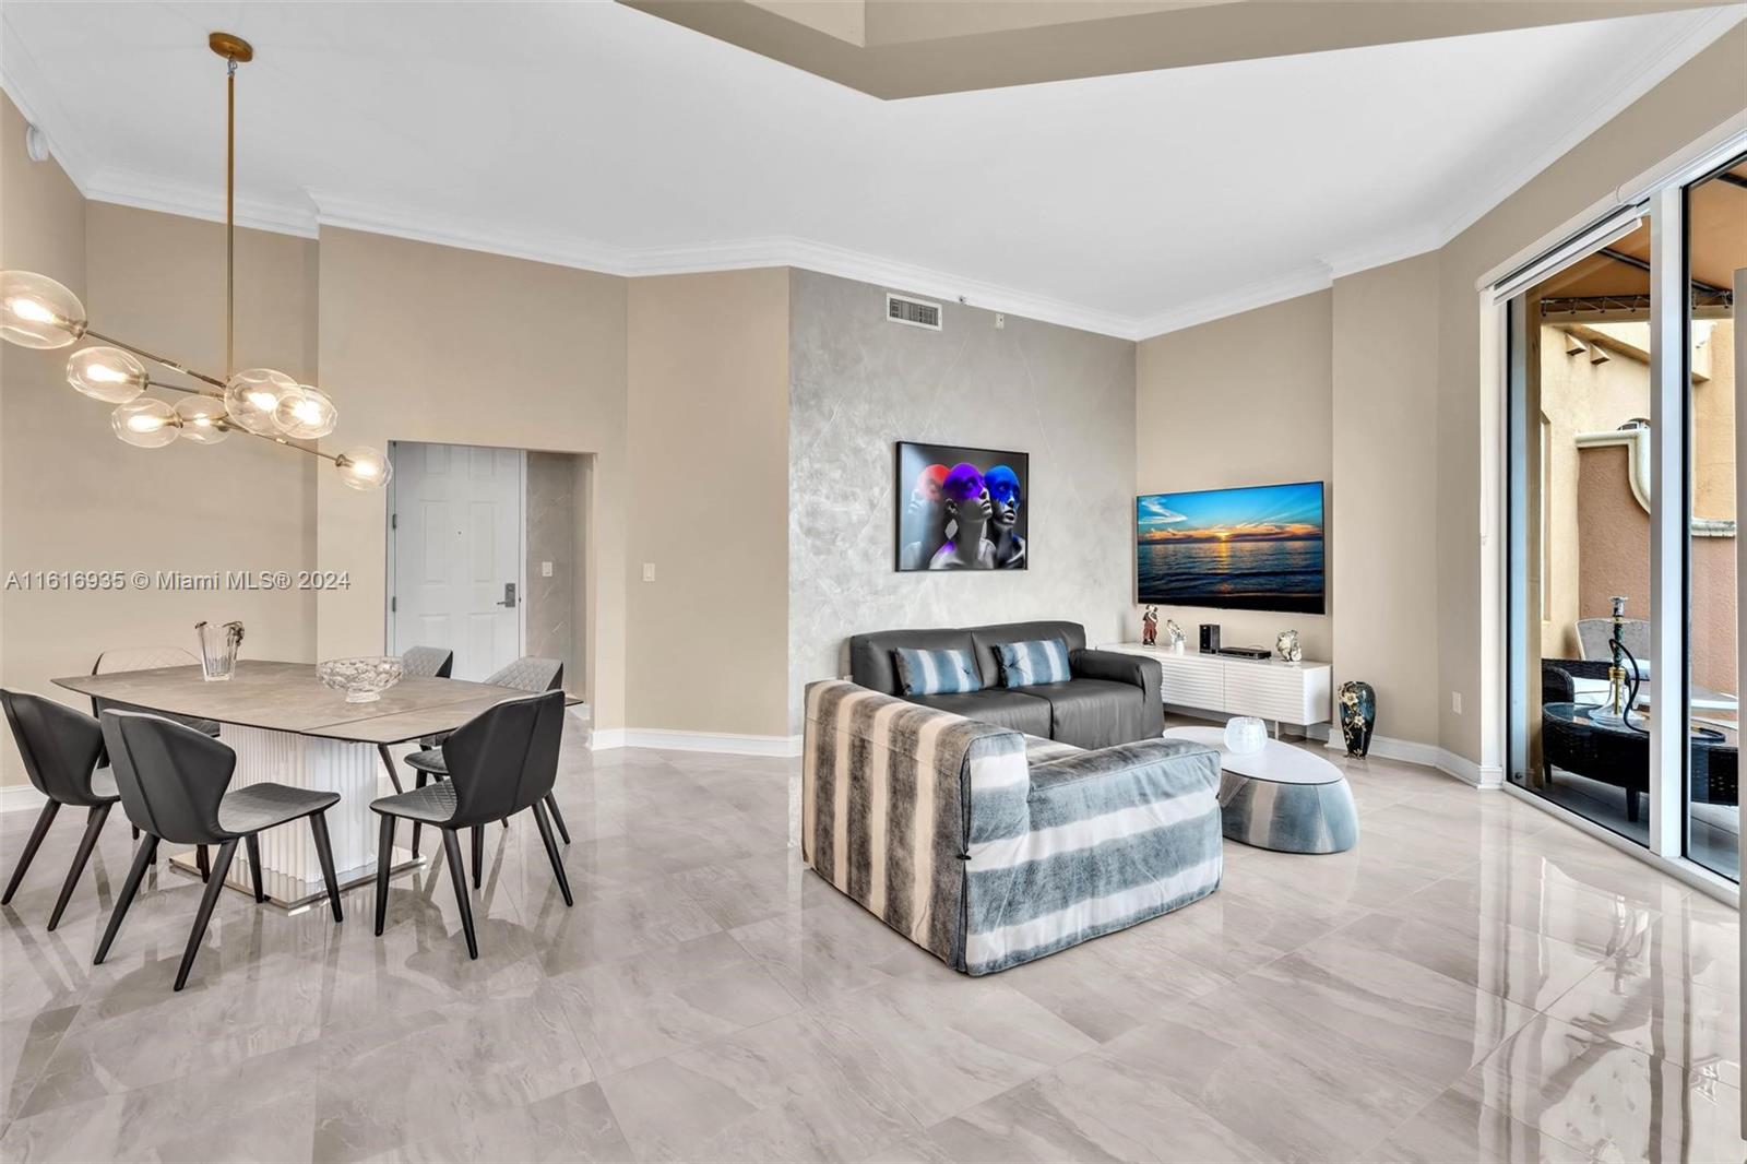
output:
[[[397,442],[390,482],[390,650],[447,647],[454,678],[522,654],[526,454]]]

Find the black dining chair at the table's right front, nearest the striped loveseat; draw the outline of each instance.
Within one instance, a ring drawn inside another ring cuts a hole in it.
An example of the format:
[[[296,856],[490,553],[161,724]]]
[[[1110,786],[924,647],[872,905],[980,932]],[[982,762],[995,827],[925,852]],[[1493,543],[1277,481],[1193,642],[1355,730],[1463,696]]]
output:
[[[473,886],[480,883],[479,865],[484,846],[484,828],[494,820],[528,809],[535,814],[540,841],[552,862],[552,876],[571,905],[570,879],[564,877],[564,858],[552,825],[545,814],[552,781],[557,779],[557,750],[564,736],[564,692],[549,690],[540,696],[505,699],[486,708],[442,741],[447,779],[425,788],[381,797],[370,811],[381,814],[383,827],[376,842],[376,933],[381,937],[388,919],[388,872],[395,862],[395,821],[442,828],[444,856],[449,860],[449,879],[461,907],[461,930],[466,933],[466,956],[479,958],[479,939],[473,933],[473,905],[468,900],[466,870],[461,865],[461,830],[473,830]]]

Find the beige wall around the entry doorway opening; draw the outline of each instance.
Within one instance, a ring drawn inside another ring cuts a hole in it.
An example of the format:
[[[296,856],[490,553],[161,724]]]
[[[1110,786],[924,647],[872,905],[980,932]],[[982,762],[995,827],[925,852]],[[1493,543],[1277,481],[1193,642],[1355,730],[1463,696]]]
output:
[[[327,229],[320,274],[321,386],[342,451],[390,440],[592,458],[583,512],[583,694],[596,727],[624,724],[625,280]],[[316,654],[386,641],[386,498],[316,475],[316,563],[351,587],[318,598]]]

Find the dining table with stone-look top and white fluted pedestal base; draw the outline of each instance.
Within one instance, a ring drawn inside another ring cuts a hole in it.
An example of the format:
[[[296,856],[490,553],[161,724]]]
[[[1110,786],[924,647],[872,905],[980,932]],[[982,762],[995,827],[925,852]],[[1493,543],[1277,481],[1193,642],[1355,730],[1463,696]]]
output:
[[[337,792],[328,809],[328,835],[341,888],[376,877],[377,827],[370,800],[379,778],[395,778],[395,745],[451,732],[480,711],[528,692],[468,680],[407,676],[369,703],[348,703],[307,662],[238,661],[231,678],[208,680],[199,666],[150,671],[70,675],[58,687],[103,701],[110,708],[157,711],[213,720],[218,739],[236,752],[232,788],[274,781],[293,788]],[[568,704],[582,703],[566,696]],[[393,872],[423,863],[411,849],[395,849]],[[194,851],[171,865],[199,876]],[[262,888],[267,900],[302,911],[325,898],[321,865],[307,828],[274,828],[260,837]],[[239,855],[225,884],[253,895],[248,862]]]

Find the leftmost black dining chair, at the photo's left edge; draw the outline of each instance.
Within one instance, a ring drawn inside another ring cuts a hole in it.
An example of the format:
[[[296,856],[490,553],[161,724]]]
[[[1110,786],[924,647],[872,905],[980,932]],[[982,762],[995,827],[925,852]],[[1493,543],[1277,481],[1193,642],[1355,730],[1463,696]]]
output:
[[[0,905],[10,905],[12,895],[24,881],[24,870],[42,848],[42,839],[49,835],[49,825],[63,804],[86,809],[86,835],[79,839],[73,853],[73,867],[66,870],[61,883],[61,897],[49,914],[49,928],[61,925],[66,902],[73,897],[91,849],[98,844],[103,821],[115,807],[115,776],[107,767],[98,767],[103,759],[103,729],[98,722],[63,703],[31,696],[21,690],[0,690],[0,704],[5,706],[7,724],[12,727],[12,739],[17,741],[17,753],[24,759],[24,774],[37,792],[49,797],[37,816],[37,825],[24,841],[24,851],[17,858],[12,879],[5,883],[5,895]]]

